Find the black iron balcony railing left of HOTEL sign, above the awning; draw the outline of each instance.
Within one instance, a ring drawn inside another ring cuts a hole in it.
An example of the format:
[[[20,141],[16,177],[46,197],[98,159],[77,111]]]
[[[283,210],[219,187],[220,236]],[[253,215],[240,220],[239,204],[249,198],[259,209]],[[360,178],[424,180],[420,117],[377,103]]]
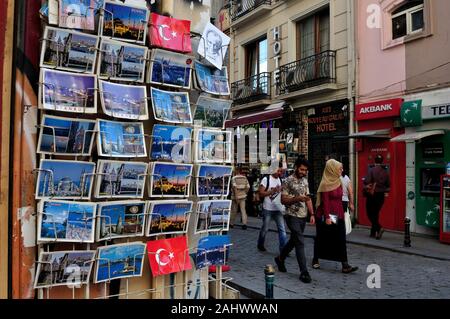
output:
[[[231,83],[231,96],[235,104],[270,98],[270,73],[259,73]]]

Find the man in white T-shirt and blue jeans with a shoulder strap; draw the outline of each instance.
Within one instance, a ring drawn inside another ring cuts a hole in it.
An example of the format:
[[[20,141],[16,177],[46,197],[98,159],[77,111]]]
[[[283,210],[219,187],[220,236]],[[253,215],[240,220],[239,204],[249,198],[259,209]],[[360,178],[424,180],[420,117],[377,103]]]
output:
[[[261,230],[259,232],[258,237],[258,250],[266,251],[264,247],[264,242],[266,239],[266,234],[269,231],[270,220],[274,220],[277,229],[278,229],[278,240],[279,240],[279,248],[280,252],[283,249],[284,245],[287,242],[286,236],[286,228],[284,226],[283,214],[279,210],[276,202],[274,200],[277,196],[281,195],[281,176],[283,175],[283,167],[282,163],[279,163],[278,168],[268,176],[265,176],[261,180],[261,184],[259,185],[259,197],[263,199],[263,210],[262,210],[262,218],[263,224],[261,226]]]

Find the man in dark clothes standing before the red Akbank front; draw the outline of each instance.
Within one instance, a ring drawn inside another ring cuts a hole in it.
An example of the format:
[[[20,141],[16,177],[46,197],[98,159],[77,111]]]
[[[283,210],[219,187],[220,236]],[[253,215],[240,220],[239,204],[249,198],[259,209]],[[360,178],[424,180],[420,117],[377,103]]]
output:
[[[367,217],[372,224],[370,237],[381,239],[384,229],[381,227],[379,218],[384,204],[384,198],[390,191],[391,182],[389,174],[383,166],[383,156],[375,156],[375,166],[369,169],[364,179],[364,194],[366,196]]]

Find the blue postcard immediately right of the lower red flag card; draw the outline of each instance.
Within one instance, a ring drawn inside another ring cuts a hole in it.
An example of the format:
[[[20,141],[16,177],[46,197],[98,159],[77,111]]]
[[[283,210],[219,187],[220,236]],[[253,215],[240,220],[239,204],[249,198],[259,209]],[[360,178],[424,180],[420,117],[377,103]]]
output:
[[[200,238],[196,254],[197,268],[225,265],[230,253],[230,246],[230,237],[228,235]]]

